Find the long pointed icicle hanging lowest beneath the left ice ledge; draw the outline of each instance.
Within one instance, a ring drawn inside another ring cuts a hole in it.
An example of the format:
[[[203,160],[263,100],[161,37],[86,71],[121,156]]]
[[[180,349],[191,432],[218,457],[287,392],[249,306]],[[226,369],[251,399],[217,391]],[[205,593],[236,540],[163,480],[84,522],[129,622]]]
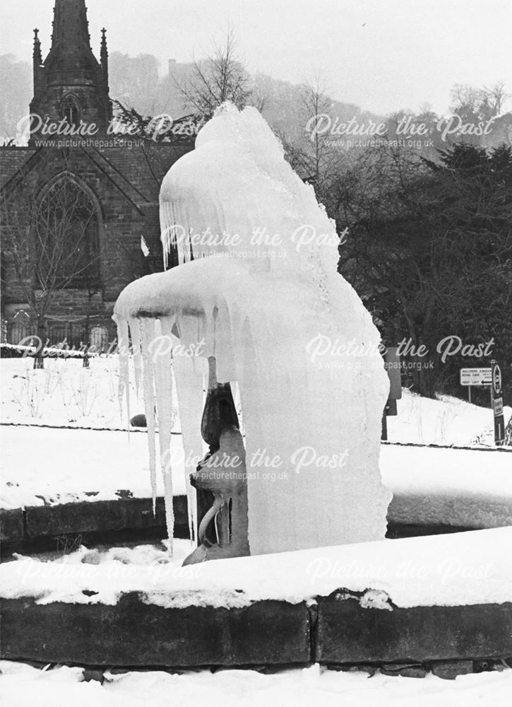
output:
[[[172,336],[172,321],[160,322],[164,337]],[[158,327],[157,327],[158,328]],[[172,387],[172,354],[166,345],[162,350],[155,349],[155,391],[158,418],[158,441],[160,445],[160,466],[164,481],[165,521],[169,551],[172,554],[172,539],[174,536],[174,508],[172,494],[172,453],[171,433],[174,426],[174,392]]]

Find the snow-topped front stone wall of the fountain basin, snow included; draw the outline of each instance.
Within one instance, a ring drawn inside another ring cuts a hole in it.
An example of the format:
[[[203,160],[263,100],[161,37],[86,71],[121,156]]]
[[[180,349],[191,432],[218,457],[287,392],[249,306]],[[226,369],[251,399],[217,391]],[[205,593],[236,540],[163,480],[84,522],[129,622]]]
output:
[[[512,527],[220,560],[80,549],[0,568],[1,655],[81,665],[512,655]]]

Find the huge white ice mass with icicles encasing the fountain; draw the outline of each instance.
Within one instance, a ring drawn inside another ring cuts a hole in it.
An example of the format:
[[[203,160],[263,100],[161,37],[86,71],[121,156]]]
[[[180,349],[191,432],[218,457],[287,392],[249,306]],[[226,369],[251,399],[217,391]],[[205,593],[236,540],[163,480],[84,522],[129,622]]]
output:
[[[129,337],[143,385],[153,489],[158,431],[170,536],[174,413],[193,472],[215,357],[237,393],[251,554],[383,538],[379,332],[337,272],[334,223],[256,109],[218,109],[165,177],[160,215],[179,265],[126,287],[114,318],[121,387]]]

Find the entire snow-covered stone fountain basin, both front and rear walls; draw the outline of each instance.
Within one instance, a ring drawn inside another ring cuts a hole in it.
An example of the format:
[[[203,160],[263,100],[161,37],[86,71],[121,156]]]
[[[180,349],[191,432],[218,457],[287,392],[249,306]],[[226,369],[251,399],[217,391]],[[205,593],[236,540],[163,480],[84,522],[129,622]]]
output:
[[[46,537],[54,550],[0,568],[4,658],[167,667],[402,663],[417,674],[417,665],[436,661],[470,670],[471,660],[512,655],[510,527],[183,569],[186,541],[177,541],[173,561],[161,547],[80,549],[56,559],[94,531],[141,532],[156,522],[164,532],[162,503],[153,520],[138,462],[145,434],[133,436],[121,469],[112,463],[126,447],[120,432],[1,432],[7,449],[18,436],[26,450],[23,467],[18,455],[4,460],[4,544],[31,551]],[[63,469],[62,445],[83,465]],[[395,493],[390,525],[409,534],[512,525],[510,453],[383,445],[381,469]],[[179,479],[175,489],[177,520],[186,524]],[[66,534],[77,543],[56,546]]]

